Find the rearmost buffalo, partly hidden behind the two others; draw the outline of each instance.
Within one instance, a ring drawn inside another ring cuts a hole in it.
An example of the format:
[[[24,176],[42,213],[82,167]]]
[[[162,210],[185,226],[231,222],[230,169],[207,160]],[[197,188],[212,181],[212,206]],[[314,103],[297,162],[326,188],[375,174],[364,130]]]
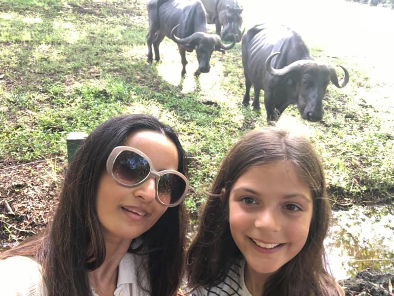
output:
[[[234,35],[236,42],[241,41],[242,8],[237,0],[201,0],[201,2],[207,12],[208,24],[216,25],[217,35],[225,41],[232,41],[231,35]]]

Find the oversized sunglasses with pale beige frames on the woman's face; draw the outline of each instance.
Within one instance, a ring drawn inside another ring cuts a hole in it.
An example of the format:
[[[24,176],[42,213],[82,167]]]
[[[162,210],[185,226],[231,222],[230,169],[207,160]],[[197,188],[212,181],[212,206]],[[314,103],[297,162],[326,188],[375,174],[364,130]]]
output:
[[[156,200],[167,207],[179,205],[189,190],[184,175],[175,170],[155,171],[148,156],[129,146],[113,148],[107,159],[107,172],[125,187],[136,187],[155,177]]]

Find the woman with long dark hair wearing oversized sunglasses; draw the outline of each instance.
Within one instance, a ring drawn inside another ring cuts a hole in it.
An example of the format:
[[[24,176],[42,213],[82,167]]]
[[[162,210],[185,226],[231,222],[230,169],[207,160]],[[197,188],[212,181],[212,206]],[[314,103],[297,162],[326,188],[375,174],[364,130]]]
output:
[[[182,279],[185,152],[149,115],[96,128],[46,231],[0,258],[1,295],[173,296]]]

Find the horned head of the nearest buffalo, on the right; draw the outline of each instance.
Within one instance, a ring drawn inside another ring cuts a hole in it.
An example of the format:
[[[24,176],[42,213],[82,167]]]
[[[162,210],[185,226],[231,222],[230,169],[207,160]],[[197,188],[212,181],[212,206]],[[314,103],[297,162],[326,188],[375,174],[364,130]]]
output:
[[[318,121],[323,117],[323,97],[326,93],[329,81],[338,88],[344,87],[349,81],[348,71],[339,83],[334,68],[319,64],[312,60],[298,60],[282,69],[274,69],[271,60],[280,52],[272,53],[265,61],[265,69],[273,76],[287,77],[287,91],[289,96],[296,98],[298,109],[302,118],[310,121]]]

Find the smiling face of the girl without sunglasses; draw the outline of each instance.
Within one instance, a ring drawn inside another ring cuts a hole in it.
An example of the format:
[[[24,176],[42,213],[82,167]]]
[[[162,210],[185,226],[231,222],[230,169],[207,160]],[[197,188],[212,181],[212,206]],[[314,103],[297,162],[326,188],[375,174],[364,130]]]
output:
[[[261,278],[302,249],[313,206],[294,165],[279,161],[242,174],[230,189],[229,210],[230,231],[246,259],[246,272]]]

